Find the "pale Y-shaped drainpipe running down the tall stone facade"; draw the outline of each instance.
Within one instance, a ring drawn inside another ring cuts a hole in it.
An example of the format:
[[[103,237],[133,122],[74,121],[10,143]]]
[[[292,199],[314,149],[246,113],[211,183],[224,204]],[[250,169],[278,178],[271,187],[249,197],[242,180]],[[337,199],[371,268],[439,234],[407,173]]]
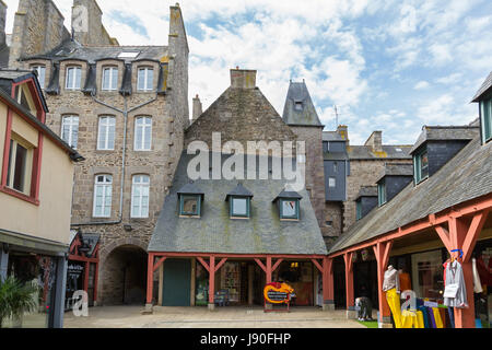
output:
[[[152,100],[149,100],[148,102],[144,102],[138,106],[134,106],[130,109],[128,109],[128,101],[127,95],[124,94],[125,100],[125,109],[119,109],[117,107],[110,106],[107,103],[99,101],[95,97],[94,92],[91,93],[91,97],[94,102],[108,107],[109,109],[116,110],[118,113],[121,113],[124,115],[124,144],[122,144],[122,155],[121,155],[121,184],[120,184],[120,191],[119,191],[119,219],[117,221],[105,221],[105,222],[85,222],[85,223],[73,223],[70,226],[97,226],[97,225],[115,225],[122,222],[122,199],[124,199],[124,189],[125,189],[125,162],[127,159],[127,124],[128,124],[128,114],[131,112],[134,112],[143,106],[147,106],[148,104],[153,103],[157,100],[157,94],[155,94],[155,97]]]

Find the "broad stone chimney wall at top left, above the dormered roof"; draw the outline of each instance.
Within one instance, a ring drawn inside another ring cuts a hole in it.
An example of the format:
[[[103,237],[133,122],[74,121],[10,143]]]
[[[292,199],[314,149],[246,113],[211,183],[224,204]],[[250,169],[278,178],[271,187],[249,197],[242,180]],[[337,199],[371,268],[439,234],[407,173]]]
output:
[[[20,58],[49,51],[69,38],[63,21],[61,12],[50,0],[20,0],[9,68],[20,68]]]

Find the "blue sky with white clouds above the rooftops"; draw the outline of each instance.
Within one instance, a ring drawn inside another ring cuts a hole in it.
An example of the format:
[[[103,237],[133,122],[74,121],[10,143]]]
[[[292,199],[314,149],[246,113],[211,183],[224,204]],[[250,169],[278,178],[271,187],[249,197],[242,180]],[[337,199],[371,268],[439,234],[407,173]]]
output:
[[[72,0],[54,0],[70,27]],[[11,33],[19,0],[9,7]],[[138,4],[137,4],[138,3]],[[99,0],[121,45],[167,45],[175,1]],[[325,130],[349,127],[352,144],[374,130],[412,144],[424,125],[467,125],[492,70],[490,0],[181,0],[190,49],[189,102],[203,110],[230,85],[230,69],[256,69],[282,115],[302,81]],[[191,109],[190,109],[191,110]]]

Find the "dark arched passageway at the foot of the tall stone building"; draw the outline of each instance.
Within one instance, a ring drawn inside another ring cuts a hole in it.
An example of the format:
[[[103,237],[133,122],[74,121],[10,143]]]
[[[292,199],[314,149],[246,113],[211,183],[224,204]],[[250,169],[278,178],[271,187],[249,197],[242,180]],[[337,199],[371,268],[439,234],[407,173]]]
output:
[[[148,254],[139,246],[121,245],[104,261],[104,305],[144,305]]]

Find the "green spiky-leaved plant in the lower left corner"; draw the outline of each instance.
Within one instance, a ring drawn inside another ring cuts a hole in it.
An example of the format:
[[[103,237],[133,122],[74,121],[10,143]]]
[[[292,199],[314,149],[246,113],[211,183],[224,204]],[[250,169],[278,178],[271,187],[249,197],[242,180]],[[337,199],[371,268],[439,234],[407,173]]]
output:
[[[24,284],[13,276],[0,279],[0,328],[8,318],[22,320],[24,313],[36,310],[37,288]]]

